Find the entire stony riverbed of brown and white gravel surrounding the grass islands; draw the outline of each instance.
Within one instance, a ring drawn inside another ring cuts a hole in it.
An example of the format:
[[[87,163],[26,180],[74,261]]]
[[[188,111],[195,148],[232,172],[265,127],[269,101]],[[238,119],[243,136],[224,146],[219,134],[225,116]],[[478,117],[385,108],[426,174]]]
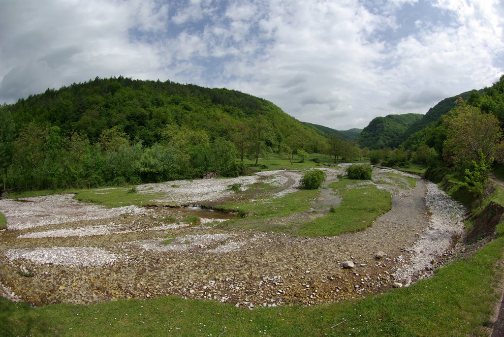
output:
[[[325,171],[333,181],[342,169]],[[373,171],[376,182],[391,172]],[[264,176],[278,186],[269,192],[275,196],[295,191],[301,174],[273,171],[137,189],[163,192],[183,205],[207,205],[232,197],[229,184],[245,188]],[[428,277],[449,254],[463,210],[423,180],[414,189],[386,182],[379,187],[393,193],[390,212],[362,232],[319,238],[224,228],[236,216],[194,208],[105,209],[69,195],[3,199],[8,230],[0,233],[0,292],[35,305],[178,295],[254,308],[329,303],[407,286]],[[338,203],[325,188],[313,207]],[[319,213],[291,217],[309,220]],[[184,223],[191,215],[201,223]],[[344,268],[345,261],[354,266]]]

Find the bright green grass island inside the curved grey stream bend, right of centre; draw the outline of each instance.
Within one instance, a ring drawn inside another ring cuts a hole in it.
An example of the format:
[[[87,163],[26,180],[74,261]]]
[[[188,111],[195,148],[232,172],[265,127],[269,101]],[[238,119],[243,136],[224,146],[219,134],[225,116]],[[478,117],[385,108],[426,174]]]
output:
[[[302,236],[334,236],[358,232],[392,208],[392,196],[375,185],[352,187],[361,180],[341,179],[329,184],[342,198],[341,204],[324,217],[302,224],[295,233]]]

